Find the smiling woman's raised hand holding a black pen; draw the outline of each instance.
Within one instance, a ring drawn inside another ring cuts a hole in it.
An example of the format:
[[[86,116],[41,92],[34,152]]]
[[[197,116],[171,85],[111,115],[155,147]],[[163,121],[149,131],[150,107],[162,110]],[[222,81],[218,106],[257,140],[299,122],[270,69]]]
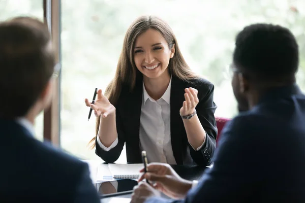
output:
[[[101,89],[97,91],[97,96],[98,98],[95,100],[95,95],[94,95],[92,102],[90,102],[89,99],[87,98],[85,99],[86,106],[92,109],[90,111],[94,111],[94,115],[96,117],[102,115],[103,118],[106,118],[109,114],[115,112],[114,106],[110,103],[108,98],[102,93]],[[90,118],[90,112],[89,112],[88,120],[89,118]]]

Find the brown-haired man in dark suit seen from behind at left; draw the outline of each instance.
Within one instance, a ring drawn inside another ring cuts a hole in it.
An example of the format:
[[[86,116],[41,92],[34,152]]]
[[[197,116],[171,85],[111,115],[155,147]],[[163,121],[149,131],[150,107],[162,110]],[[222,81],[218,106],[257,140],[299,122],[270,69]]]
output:
[[[35,117],[51,100],[54,55],[42,22],[0,23],[0,202],[99,202],[80,160],[37,141]]]

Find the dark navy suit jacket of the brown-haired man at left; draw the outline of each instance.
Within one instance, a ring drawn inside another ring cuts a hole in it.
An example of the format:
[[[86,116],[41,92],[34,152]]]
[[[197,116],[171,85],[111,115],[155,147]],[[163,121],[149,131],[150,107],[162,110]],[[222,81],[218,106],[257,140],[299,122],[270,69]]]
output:
[[[0,119],[0,202],[100,202],[86,163]]]

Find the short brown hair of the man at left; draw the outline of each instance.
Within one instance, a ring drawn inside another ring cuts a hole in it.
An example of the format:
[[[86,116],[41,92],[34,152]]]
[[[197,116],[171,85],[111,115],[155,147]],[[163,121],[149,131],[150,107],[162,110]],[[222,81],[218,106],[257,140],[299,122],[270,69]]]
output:
[[[54,72],[47,26],[16,17],[0,23],[0,117],[25,116]]]

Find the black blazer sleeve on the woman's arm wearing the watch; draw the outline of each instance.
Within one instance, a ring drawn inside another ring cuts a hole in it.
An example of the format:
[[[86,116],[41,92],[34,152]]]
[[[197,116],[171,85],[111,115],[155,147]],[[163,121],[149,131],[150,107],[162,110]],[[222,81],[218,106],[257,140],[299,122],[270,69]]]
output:
[[[214,85],[210,82],[205,82],[198,90],[199,103],[196,107],[197,116],[203,129],[206,132],[205,143],[200,150],[195,150],[190,144],[190,154],[193,160],[198,165],[211,164],[212,157],[216,148],[217,126],[215,120],[215,110],[217,108],[214,103]]]

